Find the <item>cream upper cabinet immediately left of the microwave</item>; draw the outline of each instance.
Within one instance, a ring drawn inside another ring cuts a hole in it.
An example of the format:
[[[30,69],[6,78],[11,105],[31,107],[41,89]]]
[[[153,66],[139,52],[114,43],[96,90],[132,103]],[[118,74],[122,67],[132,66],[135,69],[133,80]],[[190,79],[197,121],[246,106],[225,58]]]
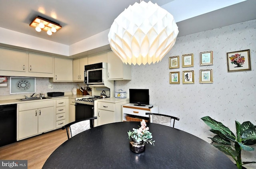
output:
[[[84,65],[88,65],[88,57],[73,60],[73,81],[84,81]]]

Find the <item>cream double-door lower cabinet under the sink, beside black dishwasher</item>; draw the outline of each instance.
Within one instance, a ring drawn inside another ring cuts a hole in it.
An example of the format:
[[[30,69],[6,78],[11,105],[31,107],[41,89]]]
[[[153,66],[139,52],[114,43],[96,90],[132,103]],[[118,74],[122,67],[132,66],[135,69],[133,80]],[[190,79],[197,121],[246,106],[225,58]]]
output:
[[[54,102],[18,104],[17,140],[54,129]]]

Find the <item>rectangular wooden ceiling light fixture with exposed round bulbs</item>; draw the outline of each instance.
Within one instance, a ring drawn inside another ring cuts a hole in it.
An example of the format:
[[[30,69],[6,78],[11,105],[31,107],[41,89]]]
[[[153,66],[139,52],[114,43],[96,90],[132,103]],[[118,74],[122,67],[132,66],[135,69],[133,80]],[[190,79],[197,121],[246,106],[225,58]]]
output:
[[[52,33],[55,33],[60,28],[60,24],[57,24],[56,22],[50,21],[46,18],[42,18],[40,16],[37,16],[30,25],[33,28],[36,28],[36,31],[40,32],[41,30],[44,30],[47,32],[48,35],[52,35]]]

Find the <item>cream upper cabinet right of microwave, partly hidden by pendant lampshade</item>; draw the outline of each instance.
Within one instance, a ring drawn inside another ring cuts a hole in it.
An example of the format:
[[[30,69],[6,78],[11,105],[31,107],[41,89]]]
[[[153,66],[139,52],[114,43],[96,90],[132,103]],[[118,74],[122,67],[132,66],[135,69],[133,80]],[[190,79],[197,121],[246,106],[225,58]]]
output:
[[[126,65],[113,51],[108,51],[108,80],[132,80],[131,65]]]

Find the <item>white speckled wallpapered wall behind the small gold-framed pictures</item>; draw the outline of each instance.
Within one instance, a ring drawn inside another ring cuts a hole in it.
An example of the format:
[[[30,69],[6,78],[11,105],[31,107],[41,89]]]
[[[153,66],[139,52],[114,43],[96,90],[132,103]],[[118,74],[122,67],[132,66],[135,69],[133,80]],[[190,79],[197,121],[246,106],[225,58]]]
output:
[[[211,142],[214,136],[200,119],[210,116],[235,133],[235,120],[256,125],[256,20],[179,37],[161,62],[132,65],[131,81],[115,81],[115,91],[149,88],[150,104],[159,112],[177,116],[175,127]],[[250,49],[251,71],[227,71],[226,53]],[[213,65],[199,66],[199,53],[213,51]],[[194,53],[194,67],[182,68],[182,55]],[[180,56],[180,68],[169,69],[169,57]],[[213,69],[213,83],[199,83],[199,70]],[[194,84],[182,84],[182,71],[194,70]],[[169,84],[169,73],[180,71],[180,84]],[[256,146],[254,146],[256,148]],[[256,161],[256,150],[246,152]],[[256,168],[256,165],[254,165]]]

